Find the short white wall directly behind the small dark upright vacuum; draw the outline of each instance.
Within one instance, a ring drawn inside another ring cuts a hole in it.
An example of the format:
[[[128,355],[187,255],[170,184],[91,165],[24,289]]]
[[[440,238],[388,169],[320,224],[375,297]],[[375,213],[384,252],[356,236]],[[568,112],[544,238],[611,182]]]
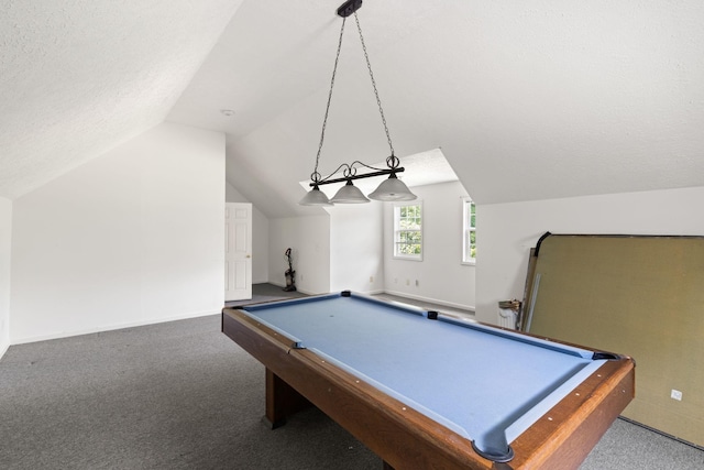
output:
[[[296,286],[306,294],[330,292],[330,217],[270,219],[268,282],[286,285],[284,252],[292,249]]]

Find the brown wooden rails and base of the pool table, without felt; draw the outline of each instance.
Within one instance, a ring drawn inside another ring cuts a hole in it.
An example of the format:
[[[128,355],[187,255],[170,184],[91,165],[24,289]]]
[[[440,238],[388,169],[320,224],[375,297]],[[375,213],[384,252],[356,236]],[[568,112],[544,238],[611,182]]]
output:
[[[306,400],[396,469],[578,468],[634,396],[634,363],[608,361],[512,442],[515,458],[495,463],[471,442],[374,386],[327,363],[242,311],[222,311],[222,331],[267,370],[266,418],[274,425]],[[301,400],[301,396],[306,400]]]

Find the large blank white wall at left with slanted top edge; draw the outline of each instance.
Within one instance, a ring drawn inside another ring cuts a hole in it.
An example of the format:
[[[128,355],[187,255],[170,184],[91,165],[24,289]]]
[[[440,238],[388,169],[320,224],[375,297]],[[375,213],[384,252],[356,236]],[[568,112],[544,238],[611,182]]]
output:
[[[216,314],[224,134],[163,123],[14,200],[13,343]]]

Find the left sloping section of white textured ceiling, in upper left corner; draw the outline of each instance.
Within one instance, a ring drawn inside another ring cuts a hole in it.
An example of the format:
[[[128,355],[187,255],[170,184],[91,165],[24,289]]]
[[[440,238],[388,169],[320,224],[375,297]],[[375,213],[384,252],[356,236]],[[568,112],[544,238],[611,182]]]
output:
[[[164,121],[240,1],[0,3],[0,196]]]

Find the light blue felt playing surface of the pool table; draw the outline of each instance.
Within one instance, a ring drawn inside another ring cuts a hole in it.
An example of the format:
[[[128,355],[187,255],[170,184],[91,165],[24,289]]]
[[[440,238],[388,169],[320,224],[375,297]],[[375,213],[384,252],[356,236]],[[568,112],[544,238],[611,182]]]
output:
[[[356,295],[246,311],[488,452],[504,451],[603,363],[591,351]]]

